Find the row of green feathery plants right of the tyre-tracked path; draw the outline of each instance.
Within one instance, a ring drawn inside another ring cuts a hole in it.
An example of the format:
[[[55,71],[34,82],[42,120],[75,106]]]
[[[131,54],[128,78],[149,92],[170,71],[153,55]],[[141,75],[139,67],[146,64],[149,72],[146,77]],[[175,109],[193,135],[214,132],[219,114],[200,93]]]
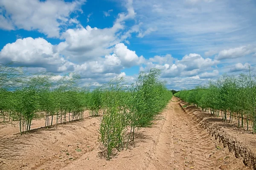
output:
[[[224,122],[232,122],[235,115],[238,127],[244,127],[246,119],[247,130],[251,120],[252,132],[256,133],[256,78],[251,72],[239,77],[224,74],[206,87],[179,91],[175,96],[216,116],[221,113]]]

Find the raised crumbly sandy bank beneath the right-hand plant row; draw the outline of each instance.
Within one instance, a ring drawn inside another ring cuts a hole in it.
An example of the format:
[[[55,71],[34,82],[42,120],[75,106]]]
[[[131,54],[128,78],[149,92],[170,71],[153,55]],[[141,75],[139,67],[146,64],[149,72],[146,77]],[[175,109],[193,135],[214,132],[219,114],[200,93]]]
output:
[[[234,152],[236,157],[240,157],[244,164],[256,170],[256,137],[255,134],[252,134],[250,125],[249,130],[245,130],[246,127],[238,128],[235,117],[233,123],[223,122],[221,116],[215,117],[210,113],[186,105],[188,105],[186,102],[180,102],[181,108],[189,114],[190,119],[207,129],[209,133],[215,136],[215,139],[218,139],[231,152]]]

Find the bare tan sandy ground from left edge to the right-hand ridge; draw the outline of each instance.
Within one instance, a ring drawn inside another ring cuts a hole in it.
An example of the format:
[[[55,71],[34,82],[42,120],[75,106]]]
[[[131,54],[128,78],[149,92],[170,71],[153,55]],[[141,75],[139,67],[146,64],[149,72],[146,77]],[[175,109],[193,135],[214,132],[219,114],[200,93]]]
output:
[[[99,117],[39,128],[20,136],[0,131],[1,170],[247,170],[212,135],[191,119],[174,97],[153,127],[111,161],[101,156]],[[10,126],[10,125],[9,125]],[[35,125],[36,127],[36,125]],[[9,131],[8,131],[9,130]]]

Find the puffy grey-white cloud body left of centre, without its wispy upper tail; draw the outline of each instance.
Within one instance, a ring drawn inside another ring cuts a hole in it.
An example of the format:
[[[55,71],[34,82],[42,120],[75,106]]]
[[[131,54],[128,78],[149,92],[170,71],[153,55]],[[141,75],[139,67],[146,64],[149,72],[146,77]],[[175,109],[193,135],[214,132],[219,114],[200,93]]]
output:
[[[58,51],[80,62],[110,54],[111,46],[119,42],[116,37],[117,28],[75,28],[65,31],[58,45]]]

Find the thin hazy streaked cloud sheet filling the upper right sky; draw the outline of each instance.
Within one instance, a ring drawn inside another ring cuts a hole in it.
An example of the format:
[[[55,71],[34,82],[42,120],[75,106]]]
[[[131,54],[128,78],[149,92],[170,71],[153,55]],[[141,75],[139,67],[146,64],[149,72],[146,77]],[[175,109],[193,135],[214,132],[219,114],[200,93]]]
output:
[[[143,42],[151,51],[202,54],[255,42],[253,0],[134,0],[142,30],[157,28]],[[210,18],[210,20],[209,20]],[[209,56],[206,56],[209,57]]]

